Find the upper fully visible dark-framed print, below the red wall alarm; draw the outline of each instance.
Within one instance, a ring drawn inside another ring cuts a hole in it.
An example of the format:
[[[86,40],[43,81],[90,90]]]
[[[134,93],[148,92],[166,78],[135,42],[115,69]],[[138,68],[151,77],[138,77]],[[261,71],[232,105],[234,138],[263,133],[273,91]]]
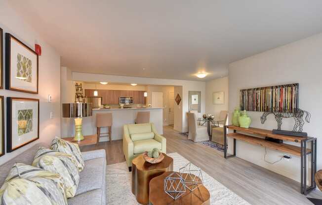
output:
[[[5,34],[5,89],[38,94],[38,55],[11,34]]]

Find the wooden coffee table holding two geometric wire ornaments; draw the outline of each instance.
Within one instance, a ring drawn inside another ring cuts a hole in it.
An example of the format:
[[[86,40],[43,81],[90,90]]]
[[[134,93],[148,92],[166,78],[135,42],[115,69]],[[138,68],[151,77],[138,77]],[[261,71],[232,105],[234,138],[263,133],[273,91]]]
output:
[[[177,200],[165,193],[163,190],[164,178],[173,172],[164,172],[150,181],[150,205],[210,205],[210,193],[203,185],[193,192],[186,188],[186,192]]]

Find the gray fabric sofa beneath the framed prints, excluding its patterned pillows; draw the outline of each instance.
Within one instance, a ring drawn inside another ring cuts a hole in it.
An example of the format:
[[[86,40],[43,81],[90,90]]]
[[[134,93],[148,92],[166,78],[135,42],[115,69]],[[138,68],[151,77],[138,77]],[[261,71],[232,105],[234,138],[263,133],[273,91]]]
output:
[[[38,143],[0,166],[0,186],[2,186],[15,162],[31,165],[40,146]],[[105,150],[82,152],[85,168],[80,172],[80,184],[75,197],[68,199],[69,205],[106,205],[106,157]]]

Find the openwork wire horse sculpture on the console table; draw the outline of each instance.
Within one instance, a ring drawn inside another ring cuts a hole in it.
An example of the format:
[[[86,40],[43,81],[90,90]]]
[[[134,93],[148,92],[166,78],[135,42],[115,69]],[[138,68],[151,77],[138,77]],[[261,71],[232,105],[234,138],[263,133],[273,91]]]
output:
[[[277,121],[277,126],[278,126],[277,129],[281,130],[282,118],[294,117],[295,125],[293,128],[293,132],[302,132],[303,125],[304,125],[304,120],[303,120],[304,112],[306,113],[305,121],[309,123],[311,118],[310,112],[301,110],[301,109],[293,109],[291,112],[274,112],[274,111],[264,112],[263,115],[260,117],[260,119],[262,124],[264,124],[267,119],[267,115],[274,114],[275,119]]]

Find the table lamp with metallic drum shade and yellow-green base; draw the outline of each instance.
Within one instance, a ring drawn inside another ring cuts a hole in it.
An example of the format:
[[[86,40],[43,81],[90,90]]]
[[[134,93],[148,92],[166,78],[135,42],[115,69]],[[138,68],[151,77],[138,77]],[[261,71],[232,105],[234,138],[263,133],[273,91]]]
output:
[[[84,139],[82,135],[81,120],[82,117],[92,116],[92,103],[63,103],[63,117],[75,118],[75,137],[74,141],[81,141]]]

